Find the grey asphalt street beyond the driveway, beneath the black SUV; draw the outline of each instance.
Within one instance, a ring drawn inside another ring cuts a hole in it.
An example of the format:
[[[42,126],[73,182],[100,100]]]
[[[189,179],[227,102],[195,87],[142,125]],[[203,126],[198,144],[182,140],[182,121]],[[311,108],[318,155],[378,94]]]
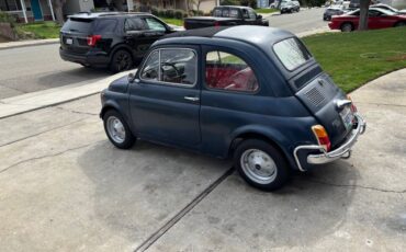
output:
[[[270,26],[303,33],[326,27],[323,9],[269,16]],[[0,50],[0,99],[111,76],[105,69],[89,69],[60,59],[58,44]]]

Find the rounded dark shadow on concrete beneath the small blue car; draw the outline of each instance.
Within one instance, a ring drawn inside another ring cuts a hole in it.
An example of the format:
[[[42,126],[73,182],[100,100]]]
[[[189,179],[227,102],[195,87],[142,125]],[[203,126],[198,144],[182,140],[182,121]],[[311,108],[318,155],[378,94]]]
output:
[[[144,141],[131,150],[102,141],[79,158],[79,165],[94,183],[95,218],[137,247],[232,164]],[[307,244],[341,225],[354,193],[341,185],[356,181],[357,171],[340,160],[295,174],[274,193],[252,188],[235,172],[161,239],[179,242],[174,249],[187,248],[194,239],[208,239],[212,249],[240,242],[255,249],[259,240],[270,245]]]

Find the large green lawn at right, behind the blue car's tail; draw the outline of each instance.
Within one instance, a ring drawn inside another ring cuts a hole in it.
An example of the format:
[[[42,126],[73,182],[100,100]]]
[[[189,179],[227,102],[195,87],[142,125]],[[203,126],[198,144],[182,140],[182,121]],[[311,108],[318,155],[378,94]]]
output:
[[[304,37],[323,69],[346,92],[406,68],[406,28],[325,33]]]

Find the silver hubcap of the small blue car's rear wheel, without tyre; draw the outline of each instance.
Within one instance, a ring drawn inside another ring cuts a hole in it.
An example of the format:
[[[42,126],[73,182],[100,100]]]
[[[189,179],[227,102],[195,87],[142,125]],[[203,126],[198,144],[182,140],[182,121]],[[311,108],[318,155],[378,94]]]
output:
[[[269,184],[277,177],[277,164],[273,159],[262,150],[248,149],[240,158],[244,173],[259,184]]]

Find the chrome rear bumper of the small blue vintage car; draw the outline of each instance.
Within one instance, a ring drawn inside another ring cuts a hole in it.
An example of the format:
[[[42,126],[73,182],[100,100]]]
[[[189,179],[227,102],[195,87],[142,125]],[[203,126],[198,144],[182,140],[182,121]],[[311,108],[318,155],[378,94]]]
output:
[[[351,147],[357,142],[357,138],[366,129],[365,121],[358,114],[356,114],[356,117],[358,121],[357,128],[351,130],[350,136],[348,137],[348,140],[346,142],[343,142],[337,149],[331,150],[330,152],[327,152],[322,146],[318,145],[297,146],[293,151],[293,156],[295,158],[298,170],[305,171],[302,168],[301,161],[297,157],[297,152],[300,150],[319,150],[320,152],[323,152],[319,154],[307,156],[307,163],[311,164],[328,163],[339,158],[349,158],[351,156]]]

